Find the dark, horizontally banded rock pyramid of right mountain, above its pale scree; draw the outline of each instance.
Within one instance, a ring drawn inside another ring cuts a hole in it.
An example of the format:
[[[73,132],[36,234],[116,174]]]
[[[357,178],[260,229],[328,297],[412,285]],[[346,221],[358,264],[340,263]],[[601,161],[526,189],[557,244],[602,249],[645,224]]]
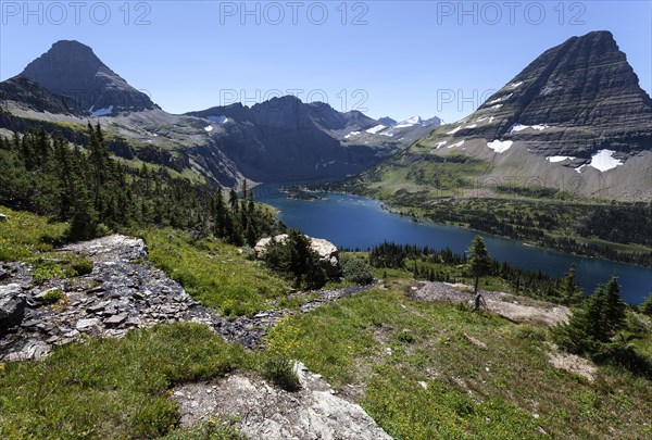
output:
[[[547,156],[652,148],[652,100],[610,32],[546,51],[463,123],[457,138],[524,141]]]

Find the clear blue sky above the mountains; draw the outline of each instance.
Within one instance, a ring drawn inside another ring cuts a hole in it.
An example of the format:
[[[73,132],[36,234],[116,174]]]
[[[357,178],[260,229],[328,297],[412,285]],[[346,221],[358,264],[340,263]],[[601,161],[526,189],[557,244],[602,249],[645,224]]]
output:
[[[302,90],[293,93],[340,111],[453,122],[546,49],[606,29],[652,93],[650,0],[279,1],[246,9],[240,1],[25,8],[0,0],[0,79],[54,41],[76,39],[173,113]]]

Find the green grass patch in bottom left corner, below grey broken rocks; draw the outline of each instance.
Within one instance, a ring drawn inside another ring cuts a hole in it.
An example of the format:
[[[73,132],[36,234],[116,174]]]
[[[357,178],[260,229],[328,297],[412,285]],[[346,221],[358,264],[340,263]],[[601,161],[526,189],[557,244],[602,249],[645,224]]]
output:
[[[0,366],[0,437],[156,438],[179,422],[171,387],[223,376],[246,359],[205,326],[174,324],[10,362]]]

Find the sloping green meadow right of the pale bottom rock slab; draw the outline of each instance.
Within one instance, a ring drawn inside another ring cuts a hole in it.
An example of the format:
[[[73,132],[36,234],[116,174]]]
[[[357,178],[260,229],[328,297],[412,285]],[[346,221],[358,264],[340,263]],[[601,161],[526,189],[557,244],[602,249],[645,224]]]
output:
[[[269,334],[397,439],[650,435],[649,380],[610,366],[594,382],[556,369],[549,340],[544,327],[394,290],[289,317]]]

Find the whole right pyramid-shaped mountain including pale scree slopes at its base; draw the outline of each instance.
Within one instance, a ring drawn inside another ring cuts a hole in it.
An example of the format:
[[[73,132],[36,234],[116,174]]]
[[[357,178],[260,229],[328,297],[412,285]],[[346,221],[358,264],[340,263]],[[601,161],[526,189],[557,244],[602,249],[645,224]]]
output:
[[[650,200],[652,100],[611,33],[573,37],[537,58],[472,115],[437,127],[364,180],[399,185],[396,176],[402,175],[403,186],[418,191],[429,187],[427,180],[399,171],[447,158],[476,161],[476,174],[468,176],[474,188],[461,194],[491,194],[503,185]]]

